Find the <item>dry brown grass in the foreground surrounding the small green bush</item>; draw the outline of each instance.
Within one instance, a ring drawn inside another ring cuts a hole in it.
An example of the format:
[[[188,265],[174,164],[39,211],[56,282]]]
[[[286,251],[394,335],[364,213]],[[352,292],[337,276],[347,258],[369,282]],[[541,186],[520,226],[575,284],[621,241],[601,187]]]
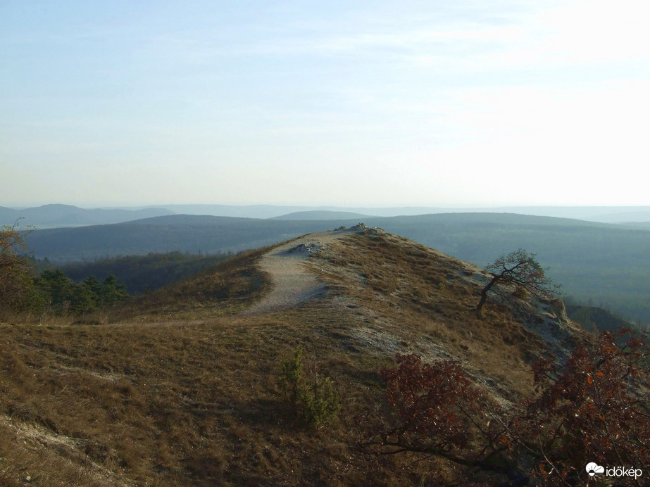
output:
[[[379,390],[381,364],[348,356],[321,329],[323,320],[344,327],[327,313],[0,327],[0,414],[70,444],[54,454],[54,440],[35,436],[18,457],[1,455],[6,483],[30,471],[36,485],[93,485],[95,477],[97,485],[337,485],[373,477],[382,484],[392,460],[376,464],[348,444],[354,415]],[[310,315],[318,321],[305,320]],[[344,396],[341,419],[327,429],[289,415],[278,391],[278,358],[298,344]],[[16,437],[3,438],[0,450],[13,450]],[[42,455],[51,459],[35,460]],[[58,478],[70,462],[80,472]],[[89,481],[79,481],[82,474]]]

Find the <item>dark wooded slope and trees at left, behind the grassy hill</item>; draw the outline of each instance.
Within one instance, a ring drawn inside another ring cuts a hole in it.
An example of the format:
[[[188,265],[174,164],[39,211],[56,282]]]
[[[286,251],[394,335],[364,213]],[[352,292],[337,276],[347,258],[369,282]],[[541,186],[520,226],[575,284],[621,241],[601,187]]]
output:
[[[28,231],[0,227],[0,315],[81,315],[200,274],[232,253],[127,255],[58,267],[30,257]]]

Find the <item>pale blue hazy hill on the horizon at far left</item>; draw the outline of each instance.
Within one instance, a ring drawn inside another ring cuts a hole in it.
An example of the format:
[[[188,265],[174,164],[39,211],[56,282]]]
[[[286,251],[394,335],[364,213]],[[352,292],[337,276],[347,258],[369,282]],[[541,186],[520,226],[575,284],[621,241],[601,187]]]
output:
[[[142,220],[142,218],[171,215],[171,210],[163,208],[144,208],[142,210],[78,208],[72,205],[43,205],[37,208],[0,207],[0,226],[13,225],[20,219],[20,225],[40,228],[76,227],[82,225],[110,224]]]

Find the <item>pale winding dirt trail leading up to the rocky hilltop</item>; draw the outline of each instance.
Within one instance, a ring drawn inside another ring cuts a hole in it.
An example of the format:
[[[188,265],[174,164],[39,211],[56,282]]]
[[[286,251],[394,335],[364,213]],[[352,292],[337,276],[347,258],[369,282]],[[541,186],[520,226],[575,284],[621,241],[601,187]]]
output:
[[[261,270],[270,274],[273,289],[242,314],[295,308],[305,301],[323,296],[325,284],[315,274],[308,272],[303,263],[312,252],[351,233],[356,231],[346,229],[308,234],[263,255],[259,265]]]

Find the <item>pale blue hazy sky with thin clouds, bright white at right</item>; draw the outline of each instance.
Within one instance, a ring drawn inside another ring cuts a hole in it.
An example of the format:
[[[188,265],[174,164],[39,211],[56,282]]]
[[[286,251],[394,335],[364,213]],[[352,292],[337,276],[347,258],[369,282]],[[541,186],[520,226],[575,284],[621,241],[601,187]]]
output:
[[[650,205],[649,15],[0,0],[0,205]]]

